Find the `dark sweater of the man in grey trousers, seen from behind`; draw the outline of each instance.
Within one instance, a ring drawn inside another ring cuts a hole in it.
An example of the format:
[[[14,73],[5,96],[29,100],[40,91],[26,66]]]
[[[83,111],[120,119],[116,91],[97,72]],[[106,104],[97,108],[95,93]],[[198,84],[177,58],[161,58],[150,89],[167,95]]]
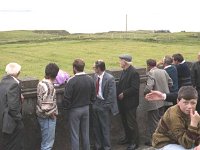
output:
[[[95,95],[94,80],[85,73],[75,74],[65,85],[63,106],[72,109],[89,105]]]

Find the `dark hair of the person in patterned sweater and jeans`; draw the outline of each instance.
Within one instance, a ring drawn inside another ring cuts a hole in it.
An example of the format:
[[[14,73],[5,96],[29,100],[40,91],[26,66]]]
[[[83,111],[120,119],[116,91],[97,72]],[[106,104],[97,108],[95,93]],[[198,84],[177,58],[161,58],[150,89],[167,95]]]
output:
[[[55,63],[49,63],[45,68],[45,78],[55,79],[59,71],[59,67]]]

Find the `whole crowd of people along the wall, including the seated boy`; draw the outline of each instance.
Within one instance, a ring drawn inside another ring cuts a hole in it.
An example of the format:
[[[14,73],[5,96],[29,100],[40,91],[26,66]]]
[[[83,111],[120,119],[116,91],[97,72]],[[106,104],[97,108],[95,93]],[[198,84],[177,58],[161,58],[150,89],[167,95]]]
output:
[[[197,103],[200,95],[200,54],[198,58],[192,71],[181,54],[165,56],[159,65],[154,59],[146,61],[146,145],[162,150],[200,149],[200,108]],[[80,139],[82,149],[90,150],[90,119],[93,122],[94,149],[111,150],[110,113],[121,115],[124,136],[118,144],[128,144],[127,150],[139,147],[136,111],[139,105],[140,76],[132,65],[130,55],[120,55],[119,60],[123,70],[117,86],[114,77],[106,71],[103,60],[94,62],[94,76],[84,72],[84,60],[74,60],[74,75],[65,83],[62,100],[63,108],[68,110],[71,150],[79,150]],[[7,75],[0,82],[3,148],[23,150],[23,95],[17,79],[21,66],[9,63],[5,71]],[[37,86],[36,114],[41,129],[41,150],[51,150],[54,144],[58,114],[55,80],[58,72],[57,64],[49,63],[45,68],[44,79]]]

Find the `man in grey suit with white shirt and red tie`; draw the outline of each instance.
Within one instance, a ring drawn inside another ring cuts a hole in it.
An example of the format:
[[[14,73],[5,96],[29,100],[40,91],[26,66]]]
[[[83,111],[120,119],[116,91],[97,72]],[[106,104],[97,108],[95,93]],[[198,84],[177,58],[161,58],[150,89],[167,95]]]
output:
[[[118,113],[116,84],[114,77],[105,72],[105,62],[94,63],[96,100],[93,104],[93,125],[95,150],[111,150],[110,143],[110,112]]]

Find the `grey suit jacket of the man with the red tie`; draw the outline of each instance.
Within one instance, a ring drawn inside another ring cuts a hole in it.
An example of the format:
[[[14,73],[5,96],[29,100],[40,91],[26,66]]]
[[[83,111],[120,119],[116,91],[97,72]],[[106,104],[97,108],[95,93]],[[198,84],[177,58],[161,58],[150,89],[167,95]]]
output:
[[[95,75],[94,78],[95,78],[94,81],[96,82],[97,76]],[[112,112],[113,115],[118,114],[119,110],[117,106],[115,79],[111,74],[107,72],[104,73],[101,90],[102,90],[104,100],[97,97],[95,101],[95,105],[108,108]]]

